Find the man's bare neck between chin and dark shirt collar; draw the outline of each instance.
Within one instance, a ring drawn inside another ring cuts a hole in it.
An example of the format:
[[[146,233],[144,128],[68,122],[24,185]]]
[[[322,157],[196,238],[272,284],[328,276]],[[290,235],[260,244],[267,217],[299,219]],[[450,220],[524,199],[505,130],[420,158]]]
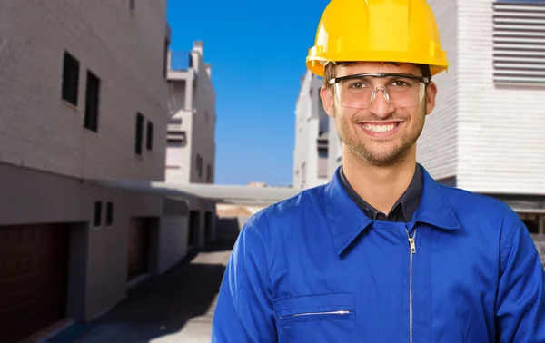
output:
[[[416,150],[391,166],[364,163],[343,149],[342,171],[352,189],[378,211],[388,214],[411,184],[416,171]]]

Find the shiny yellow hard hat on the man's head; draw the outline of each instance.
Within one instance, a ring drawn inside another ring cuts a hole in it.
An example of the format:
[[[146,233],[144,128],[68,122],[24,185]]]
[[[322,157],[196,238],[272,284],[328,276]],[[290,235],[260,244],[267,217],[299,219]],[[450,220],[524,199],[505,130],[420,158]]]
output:
[[[426,0],[331,0],[306,65],[323,76],[327,62],[342,61],[429,64],[432,75],[449,66]]]

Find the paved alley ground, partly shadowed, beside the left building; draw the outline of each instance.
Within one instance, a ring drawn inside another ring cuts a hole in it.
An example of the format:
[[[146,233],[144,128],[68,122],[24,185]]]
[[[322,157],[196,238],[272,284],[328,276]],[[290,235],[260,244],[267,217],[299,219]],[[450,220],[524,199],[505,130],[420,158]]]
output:
[[[232,240],[216,242],[163,277],[144,282],[73,342],[210,342],[217,291],[232,247]]]

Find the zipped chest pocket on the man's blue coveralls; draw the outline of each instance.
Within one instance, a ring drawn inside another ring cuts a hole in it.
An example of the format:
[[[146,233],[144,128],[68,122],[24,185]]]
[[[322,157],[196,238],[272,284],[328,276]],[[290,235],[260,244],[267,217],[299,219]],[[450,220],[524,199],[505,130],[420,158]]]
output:
[[[352,293],[275,299],[279,342],[356,342],[354,303]]]

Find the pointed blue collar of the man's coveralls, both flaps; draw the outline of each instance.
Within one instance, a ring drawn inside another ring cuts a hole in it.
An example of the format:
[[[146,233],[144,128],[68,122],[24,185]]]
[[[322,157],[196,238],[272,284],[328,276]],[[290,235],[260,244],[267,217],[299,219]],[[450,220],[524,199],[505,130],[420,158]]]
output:
[[[418,222],[430,224],[442,230],[459,230],[461,225],[451,203],[441,191],[441,185],[421,166],[423,174],[423,191],[418,210],[407,227],[412,229]],[[337,170],[324,189],[324,204],[327,220],[332,230],[335,250],[341,254],[352,241],[366,230],[373,220],[369,219],[352,201],[342,187]]]

